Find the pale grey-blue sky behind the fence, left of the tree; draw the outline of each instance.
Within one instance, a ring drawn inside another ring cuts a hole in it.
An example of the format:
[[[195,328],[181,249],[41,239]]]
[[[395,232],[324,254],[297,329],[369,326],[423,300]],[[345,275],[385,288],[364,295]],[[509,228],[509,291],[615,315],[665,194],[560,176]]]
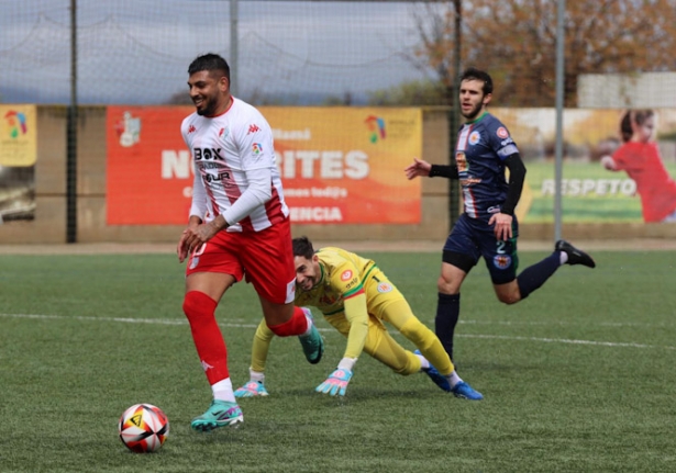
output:
[[[69,100],[68,8],[69,0],[0,0],[0,101]],[[405,57],[419,44],[415,8],[239,0],[235,61],[229,1],[80,0],[78,101],[166,103],[187,93],[187,67],[208,52],[236,66],[234,87],[243,97],[364,98],[430,75]]]

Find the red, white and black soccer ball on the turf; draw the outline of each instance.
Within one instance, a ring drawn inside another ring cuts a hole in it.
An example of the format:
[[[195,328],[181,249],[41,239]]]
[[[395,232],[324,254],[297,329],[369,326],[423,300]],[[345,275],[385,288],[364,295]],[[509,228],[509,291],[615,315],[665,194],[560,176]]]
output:
[[[169,419],[159,407],[134,404],[120,417],[119,430],[120,440],[131,451],[154,452],[169,435]]]

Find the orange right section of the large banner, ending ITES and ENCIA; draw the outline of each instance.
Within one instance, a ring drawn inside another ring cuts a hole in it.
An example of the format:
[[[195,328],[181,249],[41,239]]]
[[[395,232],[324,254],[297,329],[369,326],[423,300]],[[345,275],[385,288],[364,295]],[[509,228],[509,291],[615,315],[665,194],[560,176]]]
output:
[[[419,109],[262,108],[293,223],[417,224]]]

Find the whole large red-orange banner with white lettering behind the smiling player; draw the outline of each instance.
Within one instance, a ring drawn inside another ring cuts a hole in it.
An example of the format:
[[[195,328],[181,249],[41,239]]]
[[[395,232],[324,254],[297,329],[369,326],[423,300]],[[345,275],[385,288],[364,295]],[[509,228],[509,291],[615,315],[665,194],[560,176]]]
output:
[[[420,179],[403,176],[422,153],[420,109],[259,110],[273,127],[292,223],[420,222]],[[179,128],[192,111],[108,108],[109,225],[187,223],[193,168]]]

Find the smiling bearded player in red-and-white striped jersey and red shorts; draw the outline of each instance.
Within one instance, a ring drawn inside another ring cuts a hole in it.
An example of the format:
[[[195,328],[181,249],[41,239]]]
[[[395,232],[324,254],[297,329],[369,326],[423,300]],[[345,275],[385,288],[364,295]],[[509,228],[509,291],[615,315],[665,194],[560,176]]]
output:
[[[221,56],[199,56],[188,75],[197,110],[180,131],[192,155],[195,181],[189,223],[177,254],[180,262],[188,259],[182,308],[213,395],[191,427],[208,431],[243,420],[214,311],[245,273],[273,333],[299,336],[311,362],[321,358],[323,339],[311,317],[293,305],[289,209],[270,126],[255,108],[231,95],[230,67]]]

